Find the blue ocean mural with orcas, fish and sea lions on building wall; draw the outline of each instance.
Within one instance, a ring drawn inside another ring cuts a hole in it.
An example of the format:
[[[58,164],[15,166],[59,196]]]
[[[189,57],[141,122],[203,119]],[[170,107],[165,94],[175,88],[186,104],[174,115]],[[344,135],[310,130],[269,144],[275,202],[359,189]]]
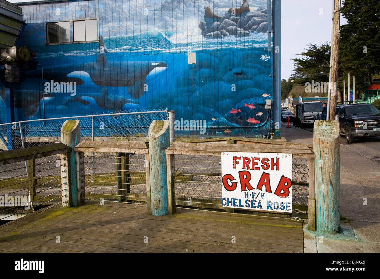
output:
[[[94,0],[24,5],[28,25],[21,44],[37,53],[44,79],[38,67],[22,73],[15,88],[16,120],[43,118],[44,98],[46,118],[167,107],[176,111],[176,120],[206,121],[204,136],[267,135],[272,118],[264,107],[265,99],[273,100],[273,61],[266,4]],[[99,19],[99,42],[45,44],[46,22],[79,18]],[[75,84],[75,94],[54,88],[55,82]],[[4,88],[0,93],[4,122]],[[122,125],[117,118],[110,121]],[[177,132],[200,134],[184,127]]]

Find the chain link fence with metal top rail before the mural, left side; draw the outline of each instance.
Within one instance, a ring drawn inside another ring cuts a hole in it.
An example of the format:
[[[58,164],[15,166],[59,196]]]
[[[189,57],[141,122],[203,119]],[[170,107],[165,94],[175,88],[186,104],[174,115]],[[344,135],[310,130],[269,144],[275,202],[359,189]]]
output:
[[[66,120],[80,120],[81,137],[91,140],[104,137],[148,136],[153,120],[167,120],[167,109],[144,111],[120,110],[112,114],[82,115],[76,117],[49,118],[0,124],[0,140],[7,147],[8,135],[14,134],[13,149],[60,142],[61,127]]]

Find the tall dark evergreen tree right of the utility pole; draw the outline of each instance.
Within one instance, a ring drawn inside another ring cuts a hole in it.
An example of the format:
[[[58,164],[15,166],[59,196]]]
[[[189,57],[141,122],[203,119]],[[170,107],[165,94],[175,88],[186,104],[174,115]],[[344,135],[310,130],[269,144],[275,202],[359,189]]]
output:
[[[343,88],[343,78],[347,83],[350,73],[355,76],[355,89],[363,92],[374,74],[380,73],[380,2],[345,0],[341,13],[348,23],[340,27],[339,87]]]

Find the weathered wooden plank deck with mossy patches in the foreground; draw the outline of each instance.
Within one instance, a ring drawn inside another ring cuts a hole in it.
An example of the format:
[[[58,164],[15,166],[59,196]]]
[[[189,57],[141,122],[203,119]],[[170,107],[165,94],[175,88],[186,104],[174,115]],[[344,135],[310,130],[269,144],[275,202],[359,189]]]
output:
[[[289,219],[183,208],[153,216],[146,205],[86,201],[2,225],[0,252],[302,253],[303,232],[301,222]]]

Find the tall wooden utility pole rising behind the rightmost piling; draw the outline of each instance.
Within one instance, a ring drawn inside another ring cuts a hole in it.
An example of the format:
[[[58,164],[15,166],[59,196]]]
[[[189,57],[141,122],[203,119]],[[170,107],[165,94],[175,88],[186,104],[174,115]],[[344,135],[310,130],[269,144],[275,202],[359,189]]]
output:
[[[330,76],[330,94],[329,94],[329,118],[328,120],[335,120],[336,114],[336,95],[338,84],[338,54],[339,54],[339,25],[340,25],[340,0],[334,1],[334,9],[332,12],[332,42],[331,42],[331,76]]]

